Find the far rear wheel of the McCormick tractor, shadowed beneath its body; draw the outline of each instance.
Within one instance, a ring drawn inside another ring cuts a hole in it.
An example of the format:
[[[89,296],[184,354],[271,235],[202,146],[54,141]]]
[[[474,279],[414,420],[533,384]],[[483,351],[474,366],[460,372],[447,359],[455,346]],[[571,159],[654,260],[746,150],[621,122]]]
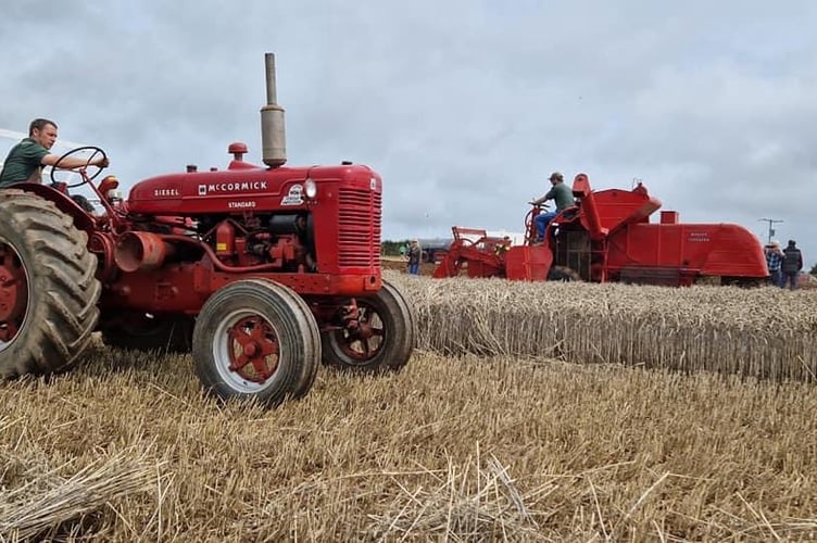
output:
[[[196,319],[187,315],[152,315],[129,312],[100,317],[102,341],[109,346],[133,351],[189,353]]]

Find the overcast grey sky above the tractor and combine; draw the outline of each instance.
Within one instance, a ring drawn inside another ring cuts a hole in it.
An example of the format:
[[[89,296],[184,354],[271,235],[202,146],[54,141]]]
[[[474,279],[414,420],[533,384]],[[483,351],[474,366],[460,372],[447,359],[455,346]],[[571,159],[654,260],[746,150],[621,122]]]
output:
[[[385,239],[520,231],[582,172],[683,222],[783,220],[810,266],[816,28],[809,0],[27,0],[0,17],[0,128],[53,118],[126,188],[236,140],[261,163],[275,52],[288,164],[377,169]]]

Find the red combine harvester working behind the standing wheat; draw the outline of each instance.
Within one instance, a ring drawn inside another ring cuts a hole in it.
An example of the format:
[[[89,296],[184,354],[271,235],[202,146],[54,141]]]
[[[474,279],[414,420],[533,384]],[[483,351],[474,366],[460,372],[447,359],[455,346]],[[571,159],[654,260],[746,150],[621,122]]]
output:
[[[593,191],[585,174],[574,179],[575,205],[563,210],[537,240],[535,205],[525,220],[523,245],[490,237],[485,230],[454,227],[454,241],[433,277],[618,281],[690,286],[752,286],[768,277],[761,241],[730,224],[683,224],[678,213],[662,211],[639,182],[632,190]]]

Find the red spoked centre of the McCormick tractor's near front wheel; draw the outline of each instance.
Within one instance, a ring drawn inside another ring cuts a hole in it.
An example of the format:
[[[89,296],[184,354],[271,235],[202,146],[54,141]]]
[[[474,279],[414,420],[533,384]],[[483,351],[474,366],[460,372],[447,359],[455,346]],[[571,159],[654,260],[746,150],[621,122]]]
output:
[[[226,352],[227,369],[249,387],[264,384],[278,369],[278,334],[260,315],[237,317],[226,329]]]

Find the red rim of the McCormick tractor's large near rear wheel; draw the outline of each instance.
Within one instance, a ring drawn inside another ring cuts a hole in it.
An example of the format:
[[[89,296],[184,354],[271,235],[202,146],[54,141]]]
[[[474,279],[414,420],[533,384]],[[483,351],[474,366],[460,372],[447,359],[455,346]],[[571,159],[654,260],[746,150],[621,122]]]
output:
[[[17,336],[27,307],[28,278],[25,266],[14,248],[0,240],[0,342],[9,343]]]

